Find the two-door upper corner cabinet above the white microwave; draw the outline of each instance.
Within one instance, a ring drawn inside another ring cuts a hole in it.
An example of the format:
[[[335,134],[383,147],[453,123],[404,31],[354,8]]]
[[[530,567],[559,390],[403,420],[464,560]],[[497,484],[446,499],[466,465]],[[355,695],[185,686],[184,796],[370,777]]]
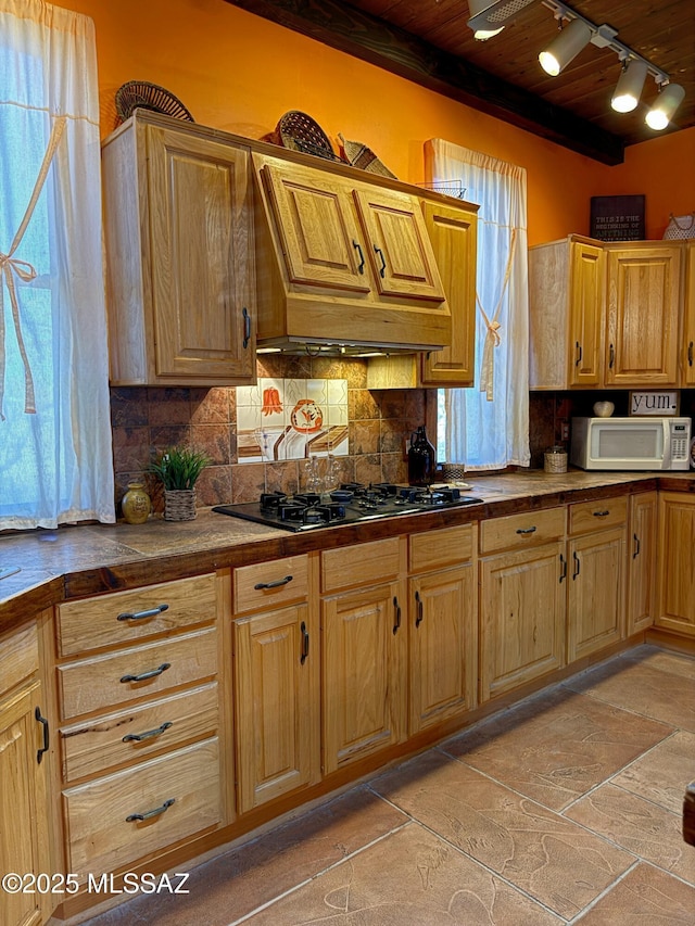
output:
[[[677,385],[682,255],[574,234],[529,249],[530,388]]]

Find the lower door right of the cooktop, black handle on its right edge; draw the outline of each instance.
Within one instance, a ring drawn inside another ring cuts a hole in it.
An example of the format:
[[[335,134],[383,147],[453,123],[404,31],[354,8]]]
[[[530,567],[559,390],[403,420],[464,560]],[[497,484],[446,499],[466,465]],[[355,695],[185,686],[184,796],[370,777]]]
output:
[[[564,548],[558,542],[481,561],[481,701],[564,664]]]

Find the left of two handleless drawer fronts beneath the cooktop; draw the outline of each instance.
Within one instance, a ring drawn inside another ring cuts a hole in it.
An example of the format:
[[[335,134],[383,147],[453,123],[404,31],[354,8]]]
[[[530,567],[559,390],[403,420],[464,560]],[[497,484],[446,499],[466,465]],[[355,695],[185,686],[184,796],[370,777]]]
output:
[[[326,550],[321,554],[321,592],[388,582],[399,571],[399,537]]]

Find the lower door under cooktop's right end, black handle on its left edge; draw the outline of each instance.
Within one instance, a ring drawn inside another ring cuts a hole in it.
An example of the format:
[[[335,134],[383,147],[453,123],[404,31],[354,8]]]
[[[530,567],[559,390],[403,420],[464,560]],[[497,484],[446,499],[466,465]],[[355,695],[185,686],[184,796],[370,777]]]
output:
[[[475,707],[473,567],[409,581],[409,734]]]

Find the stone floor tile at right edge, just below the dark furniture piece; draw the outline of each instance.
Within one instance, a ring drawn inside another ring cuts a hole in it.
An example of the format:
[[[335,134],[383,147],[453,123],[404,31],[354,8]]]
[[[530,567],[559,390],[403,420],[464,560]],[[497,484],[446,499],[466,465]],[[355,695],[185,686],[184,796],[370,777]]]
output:
[[[695,849],[683,841],[681,814],[608,784],[563,815],[695,885]]]

